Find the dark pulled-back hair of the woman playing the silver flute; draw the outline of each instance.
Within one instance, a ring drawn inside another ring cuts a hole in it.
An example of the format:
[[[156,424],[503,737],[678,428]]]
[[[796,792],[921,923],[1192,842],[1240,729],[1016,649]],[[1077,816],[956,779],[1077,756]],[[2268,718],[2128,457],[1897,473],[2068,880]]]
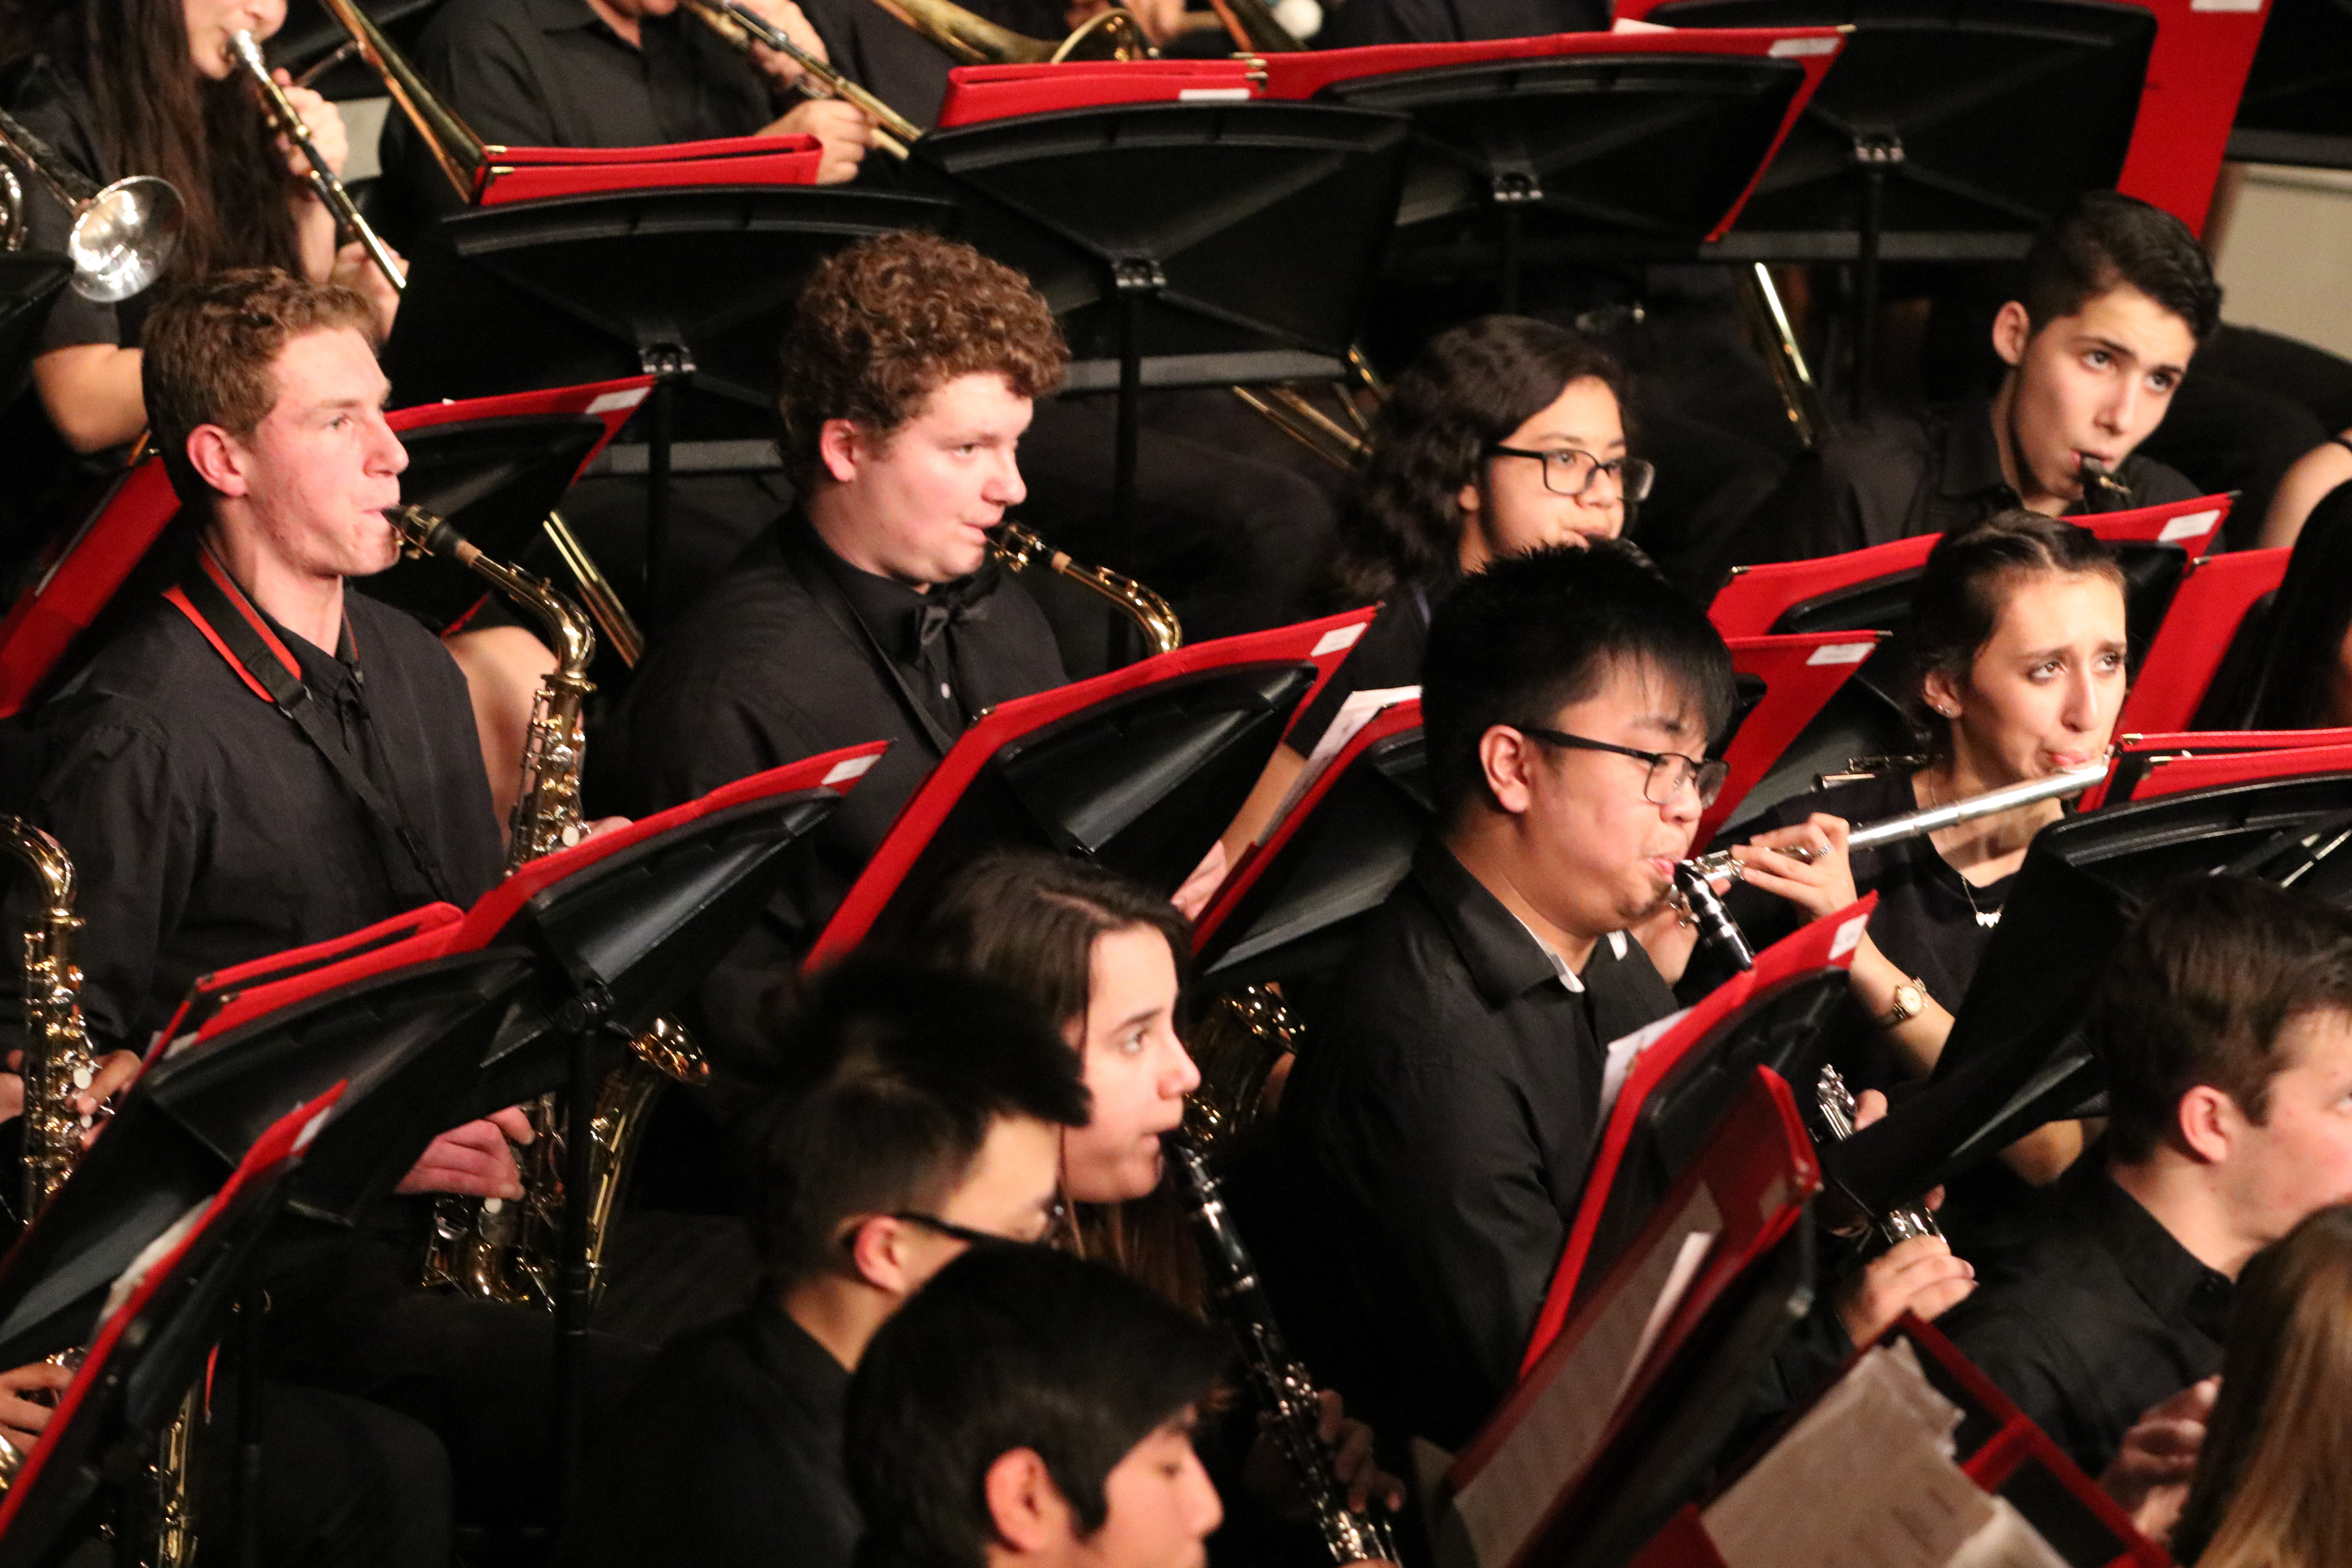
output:
[[[2002,623],[2002,604],[2020,576],[2103,576],[2124,592],[2124,567],[2091,529],[2025,508],[1964,524],[1929,550],[1919,585],[1912,588],[1910,661],[1905,705],[1912,724],[1943,755],[1952,731],[1929,717],[1922,686],[1929,675],[1966,684],[1976,656]]]

